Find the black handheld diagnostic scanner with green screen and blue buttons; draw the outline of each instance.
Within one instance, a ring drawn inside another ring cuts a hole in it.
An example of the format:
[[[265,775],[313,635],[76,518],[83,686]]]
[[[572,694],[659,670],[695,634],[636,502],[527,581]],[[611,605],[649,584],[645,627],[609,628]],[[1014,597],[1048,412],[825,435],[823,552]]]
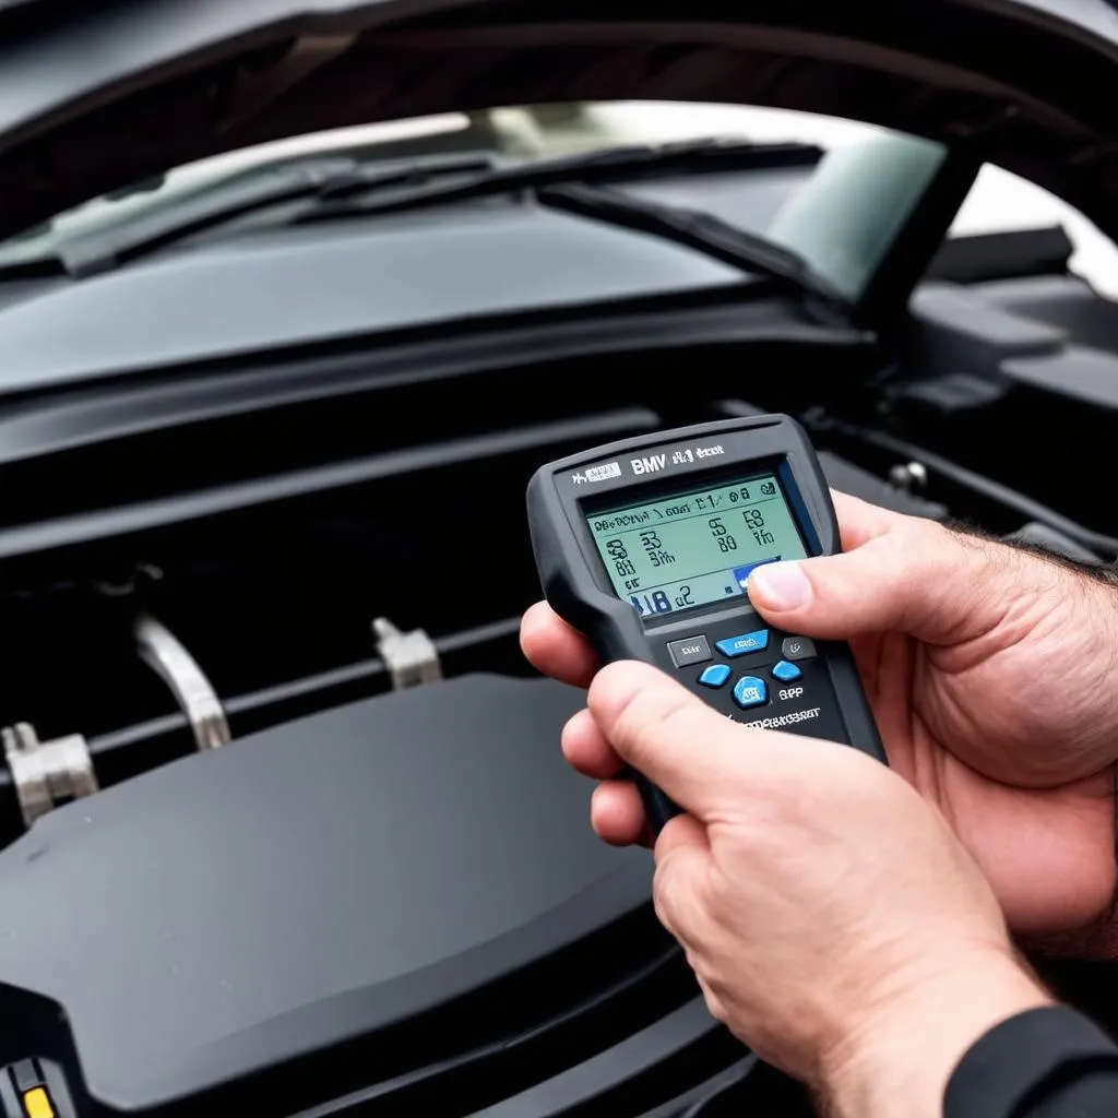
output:
[[[603,663],[655,664],[745,726],[885,759],[847,645],[773,629],[749,604],[758,567],[840,550],[795,420],[683,427],[552,462],[528,486],[528,518],[544,596]],[[633,776],[659,831],[679,808]]]

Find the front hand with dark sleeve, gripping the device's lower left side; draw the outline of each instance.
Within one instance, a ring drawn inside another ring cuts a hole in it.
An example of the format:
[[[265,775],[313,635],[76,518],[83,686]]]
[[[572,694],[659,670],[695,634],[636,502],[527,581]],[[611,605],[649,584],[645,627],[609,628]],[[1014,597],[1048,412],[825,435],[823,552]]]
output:
[[[974,1041],[1046,1003],[973,860],[869,757],[736,726],[635,663],[597,675],[565,747],[689,813],[656,842],[657,915],[713,1015],[833,1112],[938,1116]]]

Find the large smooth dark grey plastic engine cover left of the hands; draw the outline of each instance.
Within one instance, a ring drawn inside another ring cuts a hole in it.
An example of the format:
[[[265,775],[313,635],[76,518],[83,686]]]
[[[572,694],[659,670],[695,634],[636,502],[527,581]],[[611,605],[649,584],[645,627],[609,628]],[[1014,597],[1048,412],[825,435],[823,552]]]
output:
[[[0,854],[0,982],[59,1003],[89,1093],[129,1110],[530,964],[648,897],[560,756],[580,703],[464,676],[63,807]]]

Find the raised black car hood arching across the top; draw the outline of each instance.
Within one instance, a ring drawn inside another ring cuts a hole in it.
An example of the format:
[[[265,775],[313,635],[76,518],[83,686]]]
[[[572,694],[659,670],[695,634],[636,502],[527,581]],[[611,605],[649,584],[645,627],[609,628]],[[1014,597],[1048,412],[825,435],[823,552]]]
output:
[[[970,145],[1114,234],[1103,0],[0,4],[0,237],[286,135],[548,101],[716,101]],[[1074,73],[1076,82],[1067,75]]]

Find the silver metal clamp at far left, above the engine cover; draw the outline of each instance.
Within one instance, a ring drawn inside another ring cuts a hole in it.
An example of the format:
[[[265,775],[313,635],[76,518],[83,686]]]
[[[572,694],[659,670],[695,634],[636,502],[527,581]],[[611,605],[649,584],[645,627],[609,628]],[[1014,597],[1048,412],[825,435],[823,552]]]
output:
[[[17,722],[0,730],[25,826],[70,799],[98,788],[89,747],[80,733],[39,741],[35,727]]]

